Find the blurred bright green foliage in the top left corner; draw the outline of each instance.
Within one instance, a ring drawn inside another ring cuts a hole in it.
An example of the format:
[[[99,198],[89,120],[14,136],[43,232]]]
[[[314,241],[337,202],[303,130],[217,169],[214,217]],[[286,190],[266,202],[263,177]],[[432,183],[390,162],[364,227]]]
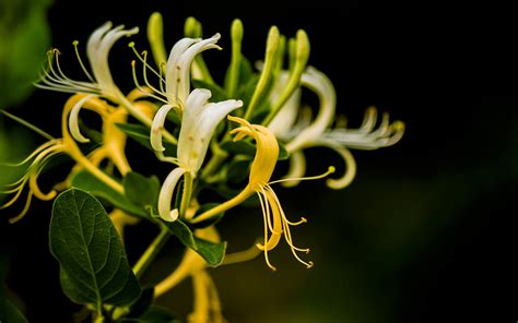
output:
[[[0,1],[0,107],[22,103],[34,89],[50,44],[51,0]]]

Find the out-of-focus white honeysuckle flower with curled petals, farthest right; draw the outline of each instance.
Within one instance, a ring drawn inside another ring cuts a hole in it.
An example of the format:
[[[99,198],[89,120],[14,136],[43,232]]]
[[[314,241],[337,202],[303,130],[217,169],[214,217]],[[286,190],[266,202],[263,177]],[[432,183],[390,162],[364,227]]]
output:
[[[278,87],[282,87],[282,74]],[[291,154],[291,167],[286,177],[303,177],[306,170],[304,149],[315,146],[326,146],[335,151],[345,163],[345,172],[339,179],[328,179],[327,184],[332,189],[342,189],[351,183],[356,172],[356,164],[349,148],[377,149],[396,144],[403,135],[404,123],[395,121],[390,124],[388,113],[384,113],[381,122],[376,128],[377,110],[370,107],[365,112],[364,121],[360,129],[344,127],[331,128],[334,119],[337,95],[331,81],[315,68],[307,68],[303,73],[301,84],[315,92],[320,100],[319,111],[313,120],[295,122],[297,106],[301,96],[294,93],[282,107],[279,115],[269,124],[269,129],[281,140],[286,142],[286,151]],[[272,92],[271,99],[275,100]],[[298,103],[297,103],[298,101]],[[286,182],[294,186],[297,181]]]

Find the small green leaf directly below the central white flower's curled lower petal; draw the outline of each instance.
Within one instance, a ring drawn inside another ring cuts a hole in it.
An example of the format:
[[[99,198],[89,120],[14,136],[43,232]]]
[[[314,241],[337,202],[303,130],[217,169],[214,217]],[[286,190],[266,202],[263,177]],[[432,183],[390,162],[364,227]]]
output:
[[[164,223],[169,232],[175,235],[184,246],[198,252],[207,263],[212,266],[219,266],[225,256],[226,242],[210,242],[195,237],[190,228],[180,219],[173,223]]]

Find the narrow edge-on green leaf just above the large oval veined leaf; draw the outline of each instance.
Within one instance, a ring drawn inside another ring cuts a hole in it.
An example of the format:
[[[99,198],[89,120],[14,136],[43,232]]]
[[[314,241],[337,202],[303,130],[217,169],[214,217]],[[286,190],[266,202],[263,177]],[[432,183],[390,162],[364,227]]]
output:
[[[115,191],[103,181],[87,172],[78,172],[72,179],[72,187],[90,192],[91,194],[108,201],[111,205],[142,218],[149,218],[148,212],[133,203],[123,194]]]

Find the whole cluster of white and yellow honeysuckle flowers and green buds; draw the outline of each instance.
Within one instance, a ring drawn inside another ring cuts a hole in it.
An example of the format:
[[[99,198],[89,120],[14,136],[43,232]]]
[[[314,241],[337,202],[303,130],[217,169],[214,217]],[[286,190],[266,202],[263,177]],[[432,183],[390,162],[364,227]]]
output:
[[[128,195],[123,182],[134,170],[126,144],[132,139],[146,146],[157,163],[172,165],[161,181],[155,204],[148,205],[149,216],[144,218],[158,227],[180,223],[192,230],[195,237],[216,243],[220,237],[214,225],[222,215],[246,201],[256,201],[262,211],[263,239],[251,249],[226,254],[223,264],[250,260],[262,252],[267,265],[275,270],[269,252],[284,237],[294,258],[307,267],[313,266],[313,262],[299,255],[309,249],[296,247],[292,236],[293,227],[307,220],[290,219],[272,184],[282,182],[293,187],[301,180],[317,180],[333,174],[335,168],[330,166],[321,175],[305,177],[304,151],[322,146],[337,152],[345,163],[342,176],[327,179],[329,188],[343,189],[356,172],[350,149],[393,145],[403,135],[403,123],[390,122],[387,113],[378,120],[375,108],[366,110],[357,129],[348,128],[335,118],[334,87],[325,73],[308,65],[309,40],[304,31],[286,39],[275,26],[271,27],[264,58],[254,70],[242,52],[244,29],[239,20],[232,24],[232,58],[224,84],[220,85],[201,53],[209,49],[221,50],[217,41],[222,36],[215,34],[203,38],[201,24],[189,17],[185,25],[186,37],[178,40],[167,56],[162,17],[158,13],[153,14],[148,38],[154,62],[149,60],[148,51],[139,52],[134,43],[129,44],[136,56],[131,62],[136,88],[125,94],[114,81],[108,56],[120,39],[138,32],[137,27],[113,27],[109,22],[98,27],[86,43],[90,70],[81,58],[79,41],[74,41],[76,59],[84,72],[82,81],[63,72],[58,50],[48,52],[48,63],[36,86],[72,95],[62,109],[61,137],[55,139],[38,130],[48,141],[14,165],[28,164],[27,171],[7,188],[4,193],[13,196],[2,207],[14,204],[25,187],[28,187],[28,193],[22,212],[11,222],[26,214],[33,195],[44,201],[52,200],[59,191],[81,187],[80,178],[85,175],[106,188],[104,191],[91,188],[94,195],[106,198],[106,193],[103,194],[106,190],[120,196]],[[287,65],[284,64],[286,57]],[[319,106],[313,109],[316,110],[315,118],[308,113],[311,108],[304,107],[301,101],[302,92],[306,89],[319,99]],[[87,129],[81,121],[80,112],[84,109],[101,117],[99,131]],[[69,156],[75,166],[64,180],[44,193],[37,183],[38,176],[57,155]],[[284,159],[290,162],[289,174],[272,180],[278,163]],[[236,184],[240,189],[235,190]],[[227,200],[201,201],[200,192],[204,190],[225,192]],[[122,234],[123,225],[134,222],[130,219],[136,214],[113,204],[111,220]],[[138,220],[142,218],[139,216]],[[250,232],[256,234],[256,230]],[[188,249],[179,267],[156,286],[155,296],[192,276],[200,297],[217,299],[205,272],[207,263],[196,251]],[[195,307],[193,321],[222,319],[217,306],[201,303]]]

